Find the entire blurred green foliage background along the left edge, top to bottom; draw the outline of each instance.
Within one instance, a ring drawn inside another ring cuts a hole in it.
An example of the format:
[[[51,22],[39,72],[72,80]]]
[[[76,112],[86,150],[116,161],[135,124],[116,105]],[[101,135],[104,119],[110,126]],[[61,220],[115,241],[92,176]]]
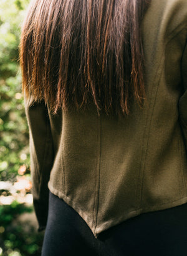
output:
[[[29,180],[29,132],[21,93],[19,40],[21,24],[29,0],[0,0],[0,180],[1,184],[16,184],[25,174]],[[15,188],[14,188],[15,190]],[[18,189],[16,195],[21,193]],[[23,193],[23,191],[22,191]],[[30,190],[24,190],[25,195]],[[15,193],[14,193],[15,194]],[[12,190],[2,188],[0,197],[12,196]],[[37,234],[29,223],[16,218],[33,207],[12,200],[0,202],[0,255],[41,255],[43,234]]]

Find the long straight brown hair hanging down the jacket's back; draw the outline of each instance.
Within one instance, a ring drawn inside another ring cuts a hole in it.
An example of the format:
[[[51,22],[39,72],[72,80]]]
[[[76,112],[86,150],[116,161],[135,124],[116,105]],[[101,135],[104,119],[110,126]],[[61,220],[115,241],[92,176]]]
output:
[[[142,106],[141,20],[150,0],[34,0],[22,28],[22,87],[36,101],[128,114]]]

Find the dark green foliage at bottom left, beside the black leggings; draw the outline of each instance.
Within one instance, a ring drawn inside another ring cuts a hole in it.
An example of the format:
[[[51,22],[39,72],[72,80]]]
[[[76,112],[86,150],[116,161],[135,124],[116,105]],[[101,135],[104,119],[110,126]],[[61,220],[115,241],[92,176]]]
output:
[[[4,256],[41,255],[43,234],[36,233],[29,221],[24,225],[20,220],[15,222],[18,215],[32,210],[31,206],[16,201],[11,205],[0,205],[0,244]]]

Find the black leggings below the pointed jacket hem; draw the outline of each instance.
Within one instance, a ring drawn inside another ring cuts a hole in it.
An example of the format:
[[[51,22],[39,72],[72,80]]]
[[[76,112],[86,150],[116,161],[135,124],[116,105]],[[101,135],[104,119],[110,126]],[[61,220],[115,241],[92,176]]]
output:
[[[186,256],[187,204],[141,214],[96,239],[74,209],[50,192],[42,256]]]

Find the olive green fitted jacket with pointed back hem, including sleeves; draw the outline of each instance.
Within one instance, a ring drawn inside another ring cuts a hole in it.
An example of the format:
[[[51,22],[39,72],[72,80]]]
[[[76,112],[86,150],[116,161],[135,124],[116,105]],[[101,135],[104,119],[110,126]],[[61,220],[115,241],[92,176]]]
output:
[[[141,213],[187,202],[187,1],[152,0],[142,23],[146,101],[126,117],[53,116],[26,99],[34,207],[46,225],[49,190],[94,235]]]

